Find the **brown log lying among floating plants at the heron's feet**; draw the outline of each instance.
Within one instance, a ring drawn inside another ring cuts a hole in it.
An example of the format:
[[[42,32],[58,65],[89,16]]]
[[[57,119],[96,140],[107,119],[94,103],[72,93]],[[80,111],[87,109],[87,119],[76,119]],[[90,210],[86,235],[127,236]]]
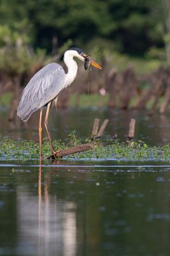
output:
[[[78,153],[78,152],[83,152],[83,151],[87,151],[92,149],[92,145],[90,143],[87,144],[81,144],[81,145],[76,145],[74,147],[71,148],[64,148],[62,150],[60,150],[59,152],[57,152],[55,154],[55,157],[63,157],[63,156],[68,156],[74,153]],[[46,159],[54,159],[53,155],[46,157]]]

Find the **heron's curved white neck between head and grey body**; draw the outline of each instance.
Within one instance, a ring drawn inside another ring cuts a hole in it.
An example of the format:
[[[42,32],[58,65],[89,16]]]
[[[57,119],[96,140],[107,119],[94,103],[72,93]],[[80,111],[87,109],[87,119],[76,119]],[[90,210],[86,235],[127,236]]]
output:
[[[67,87],[69,84],[73,83],[74,79],[76,78],[77,74],[77,63],[73,60],[73,56],[69,54],[69,52],[65,52],[64,54],[64,62],[67,66],[67,74],[65,79],[65,87]]]

